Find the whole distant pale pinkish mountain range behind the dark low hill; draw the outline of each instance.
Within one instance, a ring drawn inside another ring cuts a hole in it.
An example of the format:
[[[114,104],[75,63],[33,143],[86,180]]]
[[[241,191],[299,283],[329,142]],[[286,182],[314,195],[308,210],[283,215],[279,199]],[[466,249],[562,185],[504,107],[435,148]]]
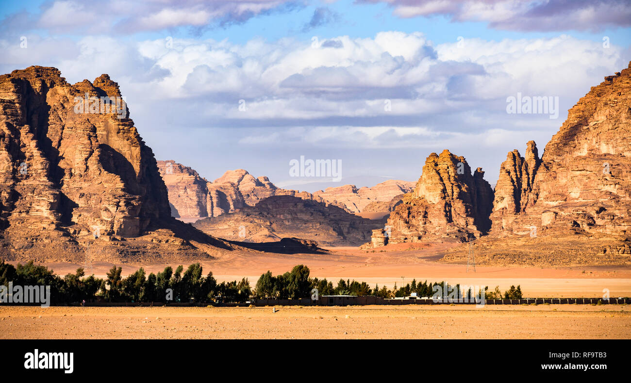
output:
[[[314,200],[341,207],[351,213],[387,212],[371,209],[388,209],[387,204],[393,197],[413,188],[411,182],[389,180],[372,188],[357,189],[353,185],[345,185],[312,194],[278,188],[269,178],[254,178],[244,169],[229,170],[212,182],[199,176],[194,169],[172,160],[158,161],[158,169],[168,188],[172,214],[184,222],[232,213],[274,195]],[[384,202],[386,205],[376,205],[375,202]]]

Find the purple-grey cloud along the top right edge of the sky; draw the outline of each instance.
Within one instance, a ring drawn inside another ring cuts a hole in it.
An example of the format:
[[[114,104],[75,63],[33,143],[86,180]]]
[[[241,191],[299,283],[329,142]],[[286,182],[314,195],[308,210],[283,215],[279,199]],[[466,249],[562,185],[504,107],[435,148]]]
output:
[[[627,0],[357,0],[387,3],[401,18],[443,15],[452,21],[485,21],[520,31],[599,31],[631,25]]]

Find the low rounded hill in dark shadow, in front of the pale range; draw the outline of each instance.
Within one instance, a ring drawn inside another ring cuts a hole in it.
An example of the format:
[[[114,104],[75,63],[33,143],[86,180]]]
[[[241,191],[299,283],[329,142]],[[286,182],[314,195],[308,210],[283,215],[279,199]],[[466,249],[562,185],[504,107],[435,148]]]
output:
[[[384,219],[370,220],[323,202],[276,195],[237,212],[198,220],[194,226],[213,236],[243,242],[300,237],[321,246],[358,246]]]

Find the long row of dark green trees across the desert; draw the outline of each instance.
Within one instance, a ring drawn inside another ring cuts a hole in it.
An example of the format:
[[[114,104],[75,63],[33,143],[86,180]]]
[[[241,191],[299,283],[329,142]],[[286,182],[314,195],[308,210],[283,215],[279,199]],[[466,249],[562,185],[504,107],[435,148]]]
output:
[[[190,265],[186,271],[182,265],[175,270],[170,266],[157,274],[146,275],[143,268],[122,277],[121,267],[112,267],[104,279],[94,275],[85,276],[83,268],[59,277],[46,266],[35,265],[33,261],[25,265],[18,263],[17,267],[0,261],[0,285],[49,285],[53,304],[63,302],[81,302],[82,300],[105,300],[107,302],[246,302],[252,298],[298,299],[309,298],[317,289],[318,295],[373,295],[382,298],[407,297],[416,293],[418,297],[432,297],[435,288],[447,287],[447,292],[456,291],[457,297],[462,297],[460,285],[449,285],[446,282],[416,282],[406,284],[400,289],[394,284],[394,289],[375,285],[371,289],[368,283],[356,280],[340,279],[336,286],[324,279],[310,278],[309,268],[297,265],[290,272],[275,277],[271,272],[261,275],[254,290],[251,289],[247,278],[240,281],[217,283],[213,273],[203,275],[199,263]],[[441,292],[443,290],[440,290]],[[469,299],[471,290],[464,293]],[[485,289],[487,299],[501,299],[502,293]],[[506,299],[520,299],[522,297],[519,286],[511,286],[504,294]]]

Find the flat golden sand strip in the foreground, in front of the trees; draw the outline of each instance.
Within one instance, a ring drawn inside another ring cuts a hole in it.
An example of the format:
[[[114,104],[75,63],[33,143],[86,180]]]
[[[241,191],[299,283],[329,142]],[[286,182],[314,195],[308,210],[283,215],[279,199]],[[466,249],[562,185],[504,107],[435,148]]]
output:
[[[628,306],[0,307],[2,339],[631,338]]]

